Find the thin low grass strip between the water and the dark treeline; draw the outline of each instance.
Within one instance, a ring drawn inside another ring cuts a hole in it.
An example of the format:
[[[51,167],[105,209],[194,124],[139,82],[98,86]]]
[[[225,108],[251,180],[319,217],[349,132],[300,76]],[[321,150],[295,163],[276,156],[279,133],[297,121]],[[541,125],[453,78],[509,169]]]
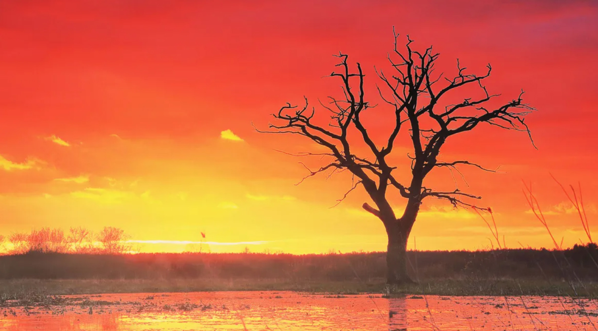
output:
[[[100,293],[161,293],[204,291],[300,291],[309,293],[450,296],[574,296],[598,298],[598,283],[512,279],[431,279],[419,284],[388,287],[378,281],[289,281],[173,279],[173,280],[2,280],[0,296],[18,298],[43,295],[91,295]]]

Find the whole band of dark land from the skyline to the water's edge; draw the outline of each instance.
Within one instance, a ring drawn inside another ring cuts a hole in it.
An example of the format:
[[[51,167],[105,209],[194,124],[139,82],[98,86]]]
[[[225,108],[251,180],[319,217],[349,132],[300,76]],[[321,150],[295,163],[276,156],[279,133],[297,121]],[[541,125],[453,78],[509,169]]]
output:
[[[594,244],[562,251],[408,252],[419,284],[388,287],[385,253],[27,253],[0,256],[0,301],[36,295],[292,290],[598,298]]]

